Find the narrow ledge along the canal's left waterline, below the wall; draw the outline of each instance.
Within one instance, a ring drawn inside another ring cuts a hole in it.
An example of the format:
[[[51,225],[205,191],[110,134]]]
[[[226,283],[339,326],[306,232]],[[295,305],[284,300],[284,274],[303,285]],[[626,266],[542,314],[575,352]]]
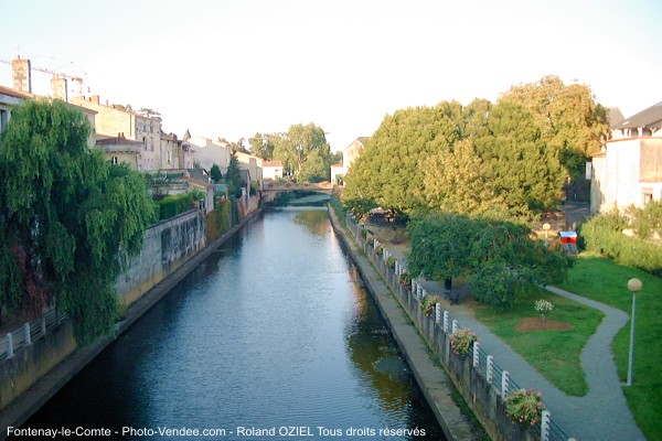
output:
[[[245,225],[249,224],[261,213],[261,208],[256,209],[246,216],[242,222],[228,229],[204,248],[200,249],[185,263],[179,267],[174,272],[166,277],[161,282],[146,292],[140,299],[134,302],[127,310],[124,320],[116,325],[116,335],[124,333],[132,323],[135,323],[145,312],[153,306],[172,287],[189,275],[200,262],[209,257],[220,245],[231,238]],[[9,427],[19,427],[24,423],[40,407],[51,399],[70,379],[81,372],[90,361],[93,361],[104,348],[115,341],[114,337],[103,338],[99,342],[79,348],[72,355],[57,364],[46,375],[33,384],[19,398],[7,406],[0,415],[0,440],[8,437]]]

